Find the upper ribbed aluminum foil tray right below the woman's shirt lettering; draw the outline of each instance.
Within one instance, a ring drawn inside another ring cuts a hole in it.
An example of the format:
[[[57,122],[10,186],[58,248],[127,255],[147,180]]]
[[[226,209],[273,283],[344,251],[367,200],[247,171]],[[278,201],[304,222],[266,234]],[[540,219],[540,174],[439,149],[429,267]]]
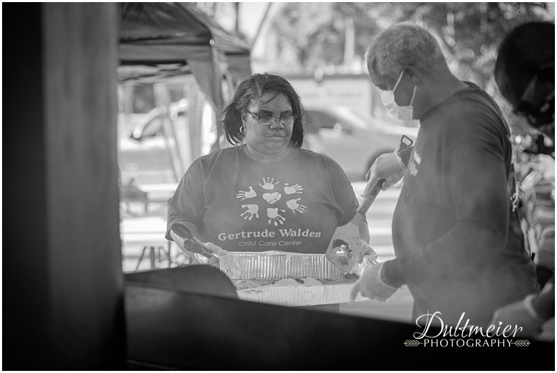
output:
[[[228,252],[219,260],[220,269],[236,278],[343,278],[345,271],[335,267],[324,254],[285,251]]]

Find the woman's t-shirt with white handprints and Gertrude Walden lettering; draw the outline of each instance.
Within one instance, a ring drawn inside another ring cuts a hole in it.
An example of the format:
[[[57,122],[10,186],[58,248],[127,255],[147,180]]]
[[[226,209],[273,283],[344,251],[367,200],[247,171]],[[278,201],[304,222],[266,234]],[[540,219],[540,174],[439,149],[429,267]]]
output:
[[[324,253],[338,225],[356,214],[358,200],[336,162],[290,149],[264,164],[242,147],[207,154],[189,167],[168,207],[168,228],[195,223],[203,241],[227,251]]]

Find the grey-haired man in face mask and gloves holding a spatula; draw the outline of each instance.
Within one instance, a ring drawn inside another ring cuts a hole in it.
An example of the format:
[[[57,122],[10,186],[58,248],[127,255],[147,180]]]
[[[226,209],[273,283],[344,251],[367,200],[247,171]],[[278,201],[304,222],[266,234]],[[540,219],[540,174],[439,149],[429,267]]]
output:
[[[352,297],[385,300],[408,285],[414,320],[439,311],[444,324],[486,325],[496,308],[538,289],[512,198],[508,125],[492,97],[450,72],[419,26],[377,35],[367,63],[386,107],[421,128],[414,147],[375,162],[382,174],[370,170],[364,195],[405,174],[393,215],[396,259],[364,273]]]

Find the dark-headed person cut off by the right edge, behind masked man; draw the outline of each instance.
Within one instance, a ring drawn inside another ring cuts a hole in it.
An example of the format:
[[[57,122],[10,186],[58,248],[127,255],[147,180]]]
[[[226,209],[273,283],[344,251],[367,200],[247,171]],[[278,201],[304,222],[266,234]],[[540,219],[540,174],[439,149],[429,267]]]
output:
[[[555,24],[530,22],[512,30],[501,43],[495,65],[495,79],[501,94],[512,104],[513,111],[523,116],[539,133],[531,136],[526,148],[533,154],[551,154],[555,159]],[[549,143],[544,141],[549,138]],[[533,187],[531,187],[533,188]],[[555,179],[549,196],[533,205],[531,216],[545,214],[545,227],[532,253],[538,282],[544,286],[540,294],[528,294],[523,300],[496,310],[492,324],[517,324],[521,334],[530,338],[545,338],[542,326],[555,323]],[[540,194],[540,193],[538,193]],[[536,222],[534,222],[536,223]],[[554,340],[554,331],[550,337]]]

